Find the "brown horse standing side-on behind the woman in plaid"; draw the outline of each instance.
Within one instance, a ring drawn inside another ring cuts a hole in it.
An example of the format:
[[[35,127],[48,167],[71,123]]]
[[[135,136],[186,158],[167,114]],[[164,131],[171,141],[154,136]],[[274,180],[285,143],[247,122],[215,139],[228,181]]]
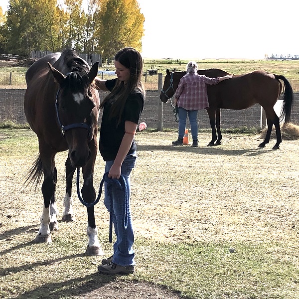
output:
[[[197,73],[210,78],[228,75],[227,72],[219,69],[199,70]],[[175,69],[171,73],[168,69],[166,70],[166,76],[160,94],[160,100],[162,102],[166,103],[168,99],[174,95],[179,80],[185,74],[186,72],[175,72]],[[276,115],[273,107],[283,91],[283,84],[280,80],[284,82],[283,111],[281,117],[284,118],[284,125],[286,125],[290,121],[294,96],[292,86],[284,76],[270,74],[265,71],[254,71],[252,73],[234,76],[216,85],[208,85],[209,108],[207,112],[212,128],[212,140],[208,146],[221,145],[221,108],[242,110],[255,104],[260,104],[266,112],[268,131],[265,140],[259,147],[263,148],[269,143],[274,124],[277,142],[273,149],[279,149],[282,142],[280,118]],[[217,127],[218,139],[215,126]]]

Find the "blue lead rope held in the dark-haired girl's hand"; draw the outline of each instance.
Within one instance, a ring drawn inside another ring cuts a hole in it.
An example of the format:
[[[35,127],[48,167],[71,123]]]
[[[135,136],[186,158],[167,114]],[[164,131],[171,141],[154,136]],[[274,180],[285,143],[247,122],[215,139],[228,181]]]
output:
[[[108,177],[109,172],[104,173],[103,178],[101,180],[100,183],[100,188],[99,188],[99,194],[97,199],[92,202],[92,203],[88,203],[85,202],[81,196],[81,192],[80,192],[80,167],[77,168],[77,194],[78,194],[78,198],[81,201],[81,203],[83,205],[85,205],[88,208],[91,208],[93,206],[95,206],[102,195],[102,190],[103,190],[103,185],[104,182],[107,183],[107,193],[110,196],[110,219],[109,219],[109,242],[112,243],[112,225],[113,225],[113,200],[112,200],[112,185],[114,185],[114,187],[118,188],[119,190],[124,192],[124,206],[123,206],[123,210],[124,210],[124,219],[123,219],[123,225],[124,225],[124,229],[127,229],[128,227],[128,206],[129,206],[129,198],[128,198],[128,186],[127,186],[127,182],[124,178],[124,175],[121,174],[119,179],[116,178],[109,178]]]

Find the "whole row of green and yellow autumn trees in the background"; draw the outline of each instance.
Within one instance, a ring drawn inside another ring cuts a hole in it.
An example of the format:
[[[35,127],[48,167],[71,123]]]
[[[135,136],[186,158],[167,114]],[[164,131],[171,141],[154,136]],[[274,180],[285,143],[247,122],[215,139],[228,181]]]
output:
[[[0,51],[29,56],[31,50],[100,53],[142,47],[144,15],[137,0],[8,0],[0,11]]]

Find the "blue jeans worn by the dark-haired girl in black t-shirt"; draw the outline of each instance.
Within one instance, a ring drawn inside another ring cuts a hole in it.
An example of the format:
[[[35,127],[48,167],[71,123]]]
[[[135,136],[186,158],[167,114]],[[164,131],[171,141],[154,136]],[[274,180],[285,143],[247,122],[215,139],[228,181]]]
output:
[[[104,203],[107,210],[110,212],[111,200],[113,201],[113,211],[112,211],[112,221],[114,225],[114,231],[116,234],[116,242],[113,245],[113,263],[121,266],[135,265],[134,261],[134,231],[133,231],[133,221],[130,209],[130,191],[131,191],[131,179],[130,174],[132,169],[135,167],[136,163],[136,152],[126,156],[121,173],[127,184],[127,204],[126,204],[126,194],[124,191],[118,188],[112,188],[111,193],[107,192],[107,183],[105,182],[105,199]],[[113,165],[114,161],[106,161],[105,172],[108,172]],[[125,206],[126,204],[126,206]],[[125,215],[125,213],[127,215]],[[128,217],[128,225],[124,227],[124,217]]]

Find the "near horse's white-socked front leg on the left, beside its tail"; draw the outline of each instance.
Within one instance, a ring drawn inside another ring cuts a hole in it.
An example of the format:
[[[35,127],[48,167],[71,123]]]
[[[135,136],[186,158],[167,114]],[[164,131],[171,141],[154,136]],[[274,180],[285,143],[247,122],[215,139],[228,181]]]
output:
[[[54,176],[54,168],[52,170],[52,165],[47,165],[44,161],[42,161],[43,171],[44,171],[44,181],[42,183],[41,191],[44,199],[44,206],[42,215],[40,217],[40,226],[38,234],[35,238],[35,242],[37,243],[50,243],[51,240],[51,233],[50,233],[50,221],[51,221],[51,212],[53,214],[55,207],[51,206],[51,200],[55,199],[55,176]]]

